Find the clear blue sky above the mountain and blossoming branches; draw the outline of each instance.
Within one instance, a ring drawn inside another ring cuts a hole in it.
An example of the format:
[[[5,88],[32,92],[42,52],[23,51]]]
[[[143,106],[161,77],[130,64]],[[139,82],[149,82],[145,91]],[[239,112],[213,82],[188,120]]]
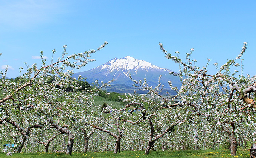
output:
[[[168,53],[186,56],[190,48],[197,66],[224,64],[235,58],[248,42],[244,74],[256,74],[255,0],[1,0],[0,70],[9,65],[7,77],[19,68],[38,63],[40,51],[50,60],[51,50],[61,56],[109,44],[92,55],[95,62],[75,72],[127,55],[156,66],[178,71]],[[214,66],[209,74],[215,74]],[[238,69],[238,71],[240,71]]]

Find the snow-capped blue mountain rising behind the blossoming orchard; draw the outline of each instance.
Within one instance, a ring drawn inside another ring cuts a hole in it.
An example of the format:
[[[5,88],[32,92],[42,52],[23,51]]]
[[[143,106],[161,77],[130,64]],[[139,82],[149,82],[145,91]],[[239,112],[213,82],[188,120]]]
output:
[[[94,69],[73,74],[73,77],[86,77],[89,83],[95,80],[104,81],[104,83],[114,79],[112,84],[134,84],[129,78],[129,74],[135,80],[143,80],[146,78],[150,86],[158,84],[159,75],[162,75],[161,83],[168,86],[168,81],[171,80],[174,86],[180,87],[178,77],[170,75],[171,70],[160,68],[152,65],[144,60],[137,60],[133,57],[126,56],[121,59],[111,59],[107,63],[98,66]]]

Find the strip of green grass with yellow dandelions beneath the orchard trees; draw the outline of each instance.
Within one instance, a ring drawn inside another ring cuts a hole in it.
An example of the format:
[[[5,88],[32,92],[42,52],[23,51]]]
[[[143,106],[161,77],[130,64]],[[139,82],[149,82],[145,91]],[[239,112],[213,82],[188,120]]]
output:
[[[113,152],[87,152],[87,153],[15,153],[6,156],[0,153],[1,158],[248,158],[248,150],[239,149],[236,156],[230,156],[229,150],[185,150],[185,151],[152,151],[144,155],[144,151],[123,151],[119,154]]]

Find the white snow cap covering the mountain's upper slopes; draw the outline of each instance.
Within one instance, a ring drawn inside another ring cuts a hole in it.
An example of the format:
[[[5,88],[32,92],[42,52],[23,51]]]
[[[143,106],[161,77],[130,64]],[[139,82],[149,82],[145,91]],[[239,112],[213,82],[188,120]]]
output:
[[[163,71],[170,72],[170,70],[168,69],[159,68],[158,66],[152,65],[149,62],[146,62],[144,60],[137,60],[130,56],[126,56],[120,59],[111,59],[107,63],[98,66],[98,68],[101,68],[101,70],[107,69],[109,73],[113,71],[122,71],[126,76],[129,76],[130,73],[137,74],[139,69],[144,69],[146,71],[148,71],[148,69],[161,69]]]

